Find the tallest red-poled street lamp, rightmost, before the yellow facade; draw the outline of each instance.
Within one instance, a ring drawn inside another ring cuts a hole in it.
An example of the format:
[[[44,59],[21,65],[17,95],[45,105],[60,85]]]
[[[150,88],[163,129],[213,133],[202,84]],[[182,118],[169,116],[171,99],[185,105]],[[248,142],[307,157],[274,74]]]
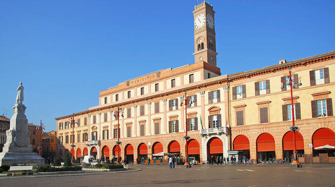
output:
[[[295,132],[298,131],[298,127],[294,126],[294,107],[293,107],[293,95],[292,95],[292,88],[295,88],[294,85],[293,85],[293,81],[294,80],[298,80],[298,85],[303,85],[301,84],[301,77],[299,78],[296,78],[296,79],[292,79],[292,76],[291,76],[291,70],[292,70],[292,67],[289,67],[288,68],[288,71],[290,73],[289,77],[288,77],[288,82],[286,83],[287,85],[290,85],[290,89],[291,89],[291,109],[292,109],[292,126],[290,127],[291,131],[293,131],[293,162],[291,164],[291,168],[301,168],[301,164],[299,163],[298,161],[298,155],[296,153],[296,142],[295,142]],[[282,81],[282,88],[284,88],[284,82],[286,82],[286,80]]]

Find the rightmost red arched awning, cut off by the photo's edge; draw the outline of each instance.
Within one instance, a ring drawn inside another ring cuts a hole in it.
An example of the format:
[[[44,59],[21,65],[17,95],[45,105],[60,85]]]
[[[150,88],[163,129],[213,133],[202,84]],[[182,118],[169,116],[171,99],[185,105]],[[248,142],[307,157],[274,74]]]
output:
[[[314,133],[312,140],[313,148],[323,145],[335,146],[335,133],[328,128],[322,128]]]

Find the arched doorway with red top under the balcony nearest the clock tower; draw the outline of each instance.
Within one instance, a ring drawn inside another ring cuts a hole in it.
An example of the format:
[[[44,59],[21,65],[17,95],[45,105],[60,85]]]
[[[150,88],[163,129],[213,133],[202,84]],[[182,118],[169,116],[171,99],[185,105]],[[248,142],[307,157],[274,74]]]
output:
[[[223,143],[220,138],[213,137],[207,143],[207,160],[217,163],[219,158],[223,157]]]

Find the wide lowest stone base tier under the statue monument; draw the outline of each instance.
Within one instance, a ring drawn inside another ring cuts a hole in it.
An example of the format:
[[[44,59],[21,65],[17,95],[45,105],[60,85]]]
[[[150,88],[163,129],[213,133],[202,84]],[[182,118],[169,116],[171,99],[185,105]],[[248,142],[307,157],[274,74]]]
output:
[[[36,152],[0,152],[0,166],[17,166],[21,164],[44,165],[44,159]]]

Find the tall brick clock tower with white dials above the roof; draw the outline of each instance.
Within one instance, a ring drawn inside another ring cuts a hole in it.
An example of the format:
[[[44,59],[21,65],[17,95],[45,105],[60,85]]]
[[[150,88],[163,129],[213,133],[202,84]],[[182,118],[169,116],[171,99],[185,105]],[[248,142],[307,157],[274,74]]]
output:
[[[195,63],[205,61],[216,67],[214,10],[204,2],[194,7],[194,58]]]

